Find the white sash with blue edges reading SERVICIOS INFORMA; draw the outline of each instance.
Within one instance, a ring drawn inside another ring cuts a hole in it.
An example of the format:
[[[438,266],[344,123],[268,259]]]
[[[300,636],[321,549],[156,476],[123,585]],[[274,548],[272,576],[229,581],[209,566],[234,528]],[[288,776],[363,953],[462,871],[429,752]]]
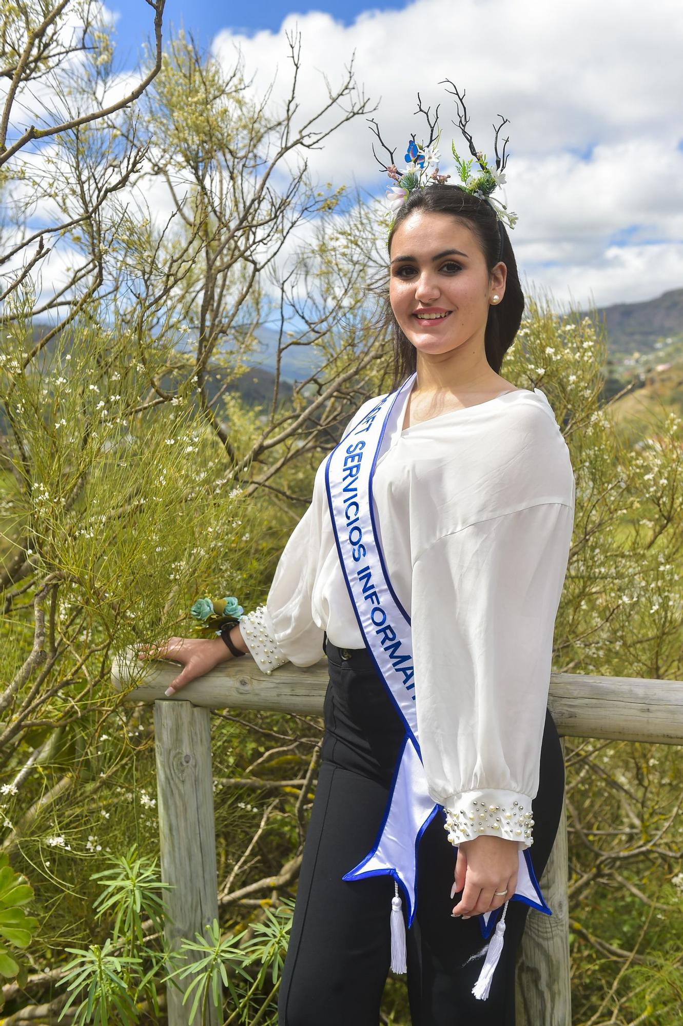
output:
[[[443,807],[430,797],[423,766],[410,617],[392,588],[385,564],[375,524],[372,475],[392,408],[412,387],[415,377],[411,374],[397,391],[378,398],[363,420],[344,436],[325,466],[334,540],[351,604],[365,645],[406,732],[374,846],[343,878],[392,876],[407,902],[408,926],[412,924],[417,900],[419,839],[434,816],[439,811],[443,814]],[[512,898],[552,915],[536,881],[528,849],[519,853],[517,890]],[[445,896],[444,901],[447,900]],[[493,932],[499,914],[500,909],[496,909],[479,915],[485,939]]]

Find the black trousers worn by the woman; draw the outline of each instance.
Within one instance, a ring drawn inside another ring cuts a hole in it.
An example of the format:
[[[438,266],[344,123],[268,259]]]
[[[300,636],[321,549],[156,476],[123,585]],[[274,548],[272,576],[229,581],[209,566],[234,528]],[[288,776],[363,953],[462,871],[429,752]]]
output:
[[[391,960],[391,876],[345,881],[371,850],[404,736],[402,721],[366,649],[325,650],[320,773],[311,812],[289,950],[278,1001],[279,1026],[378,1026]],[[344,658],[349,656],[349,658]],[[523,724],[519,724],[523,729]],[[546,715],[540,781],[532,802],[536,875],[545,869],[562,808],[564,762]],[[437,814],[418,850],[417,911],[407,932],[408,997],[413,1026],[514,1026],[515,956],[529,907],[511,901],[505,943],[488,997],[472,994],[483,958],[463,963],[486,943],[475,915],[451,917],[455,850]],[[405,901],[404,915],[405,915]],[[534,911],[534,915],[544,913]],[[541,1024],[534,1024],[541,1026]]]

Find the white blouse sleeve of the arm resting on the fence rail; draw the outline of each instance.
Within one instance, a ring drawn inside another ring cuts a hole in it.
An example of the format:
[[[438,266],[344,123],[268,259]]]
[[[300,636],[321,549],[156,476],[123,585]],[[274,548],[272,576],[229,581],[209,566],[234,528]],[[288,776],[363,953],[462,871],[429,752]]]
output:
[[[344,430],[362,420],[375,398],[366,400]],[[327,459],[327,458],[325,458]],[[324,462],[324,461],[323,461]],[[322,483],[321,467],[316,481]],[[266,673],[283,663],[312,666],[323,657],[323,630],[313,619],[311,600],[321,550],[322,518],[328,516],[324,488],[294,527],[278,561],[265,605],[240,619],[240,631],[249,653]]]

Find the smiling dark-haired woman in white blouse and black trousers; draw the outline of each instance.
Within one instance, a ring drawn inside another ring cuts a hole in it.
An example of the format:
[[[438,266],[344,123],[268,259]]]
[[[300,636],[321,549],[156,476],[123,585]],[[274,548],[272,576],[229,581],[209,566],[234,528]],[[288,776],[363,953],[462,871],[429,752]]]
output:
[[[559,823],[564,767],[547,697],[574,479],[544,393],[498,372],[524,300],[492,206],[445,183],[415,189],[396,215],[389,255],[392,393],[404,385],[387,416],[371,505],[393,593],[411,625],[408,686],[428,801],[448,814],[447,835],[443,815],[433,815],[419,837],[419,901],[407,931],[411,1018],[413,1026],[513,1026],[528,905],[507,906],[486,1000],[472,992],[481,969],[475,917],[515,895],[520,851],[529,850],[540,877]],[[344,440],[376,407],[376,397],[364,403]],[[242,618],[227,641],[268,672],[287,660],[311,665],[323,647],[329,668],[280,1026],[376,1026],[396,889],[384,874],[344,877],[377,838],[406,728],[348,587],[327,463],[266,606]],[[220,638],[171,638],[161,655],[184,664],[173,690],[235,658]]]

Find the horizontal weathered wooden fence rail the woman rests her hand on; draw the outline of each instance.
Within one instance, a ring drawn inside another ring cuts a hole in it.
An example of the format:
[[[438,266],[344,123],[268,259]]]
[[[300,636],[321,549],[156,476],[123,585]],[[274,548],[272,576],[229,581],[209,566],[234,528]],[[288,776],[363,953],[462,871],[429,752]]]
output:
[[[134,654],[126,653],[114,663],[112,681],[118,689],[138,685],[126,695],[131,702],[156,702],[164,699],[176,667],[174,663],[136,663]],[[307,667],[285,663],[269,676],[258,670],[250,656],[245,656],[222,664],[166,701],[185,700],[209,709],[233,707],[319,715],[327,680],[325,660]],[[680,680],[554,673],[548,705],[563,737],[683,745]]]

